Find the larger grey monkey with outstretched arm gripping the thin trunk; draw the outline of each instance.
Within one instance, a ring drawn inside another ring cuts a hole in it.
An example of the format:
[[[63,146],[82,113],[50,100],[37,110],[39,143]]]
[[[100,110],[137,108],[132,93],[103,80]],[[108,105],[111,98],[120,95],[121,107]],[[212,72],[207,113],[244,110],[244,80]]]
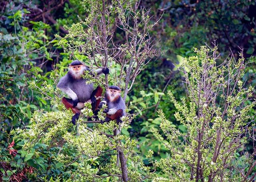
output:
[[[95,110],[100,104],[100,100],[96,100],[96,97],[102,96],[102,88],[98,86],[93,90],[93,83],[86,84],[86,79],[83,79],[81,76],[84,74],[84,71],[91,70],[84,65],[82,62],[75,60],[68,67],[68,73],[60,78],[60,81],[57,84],[57,87],[65,92],[70,98],[63,97],[62,103],[67,109],[71,108],[72,112],[75,114],[72,117],[72,123],[75,125],[76,120],[80,115],[80,110],[84,107],[84,102],[91,102],[92,109]],[[108,74],[109,69],[97,69],[97,74],[102,73]]]

